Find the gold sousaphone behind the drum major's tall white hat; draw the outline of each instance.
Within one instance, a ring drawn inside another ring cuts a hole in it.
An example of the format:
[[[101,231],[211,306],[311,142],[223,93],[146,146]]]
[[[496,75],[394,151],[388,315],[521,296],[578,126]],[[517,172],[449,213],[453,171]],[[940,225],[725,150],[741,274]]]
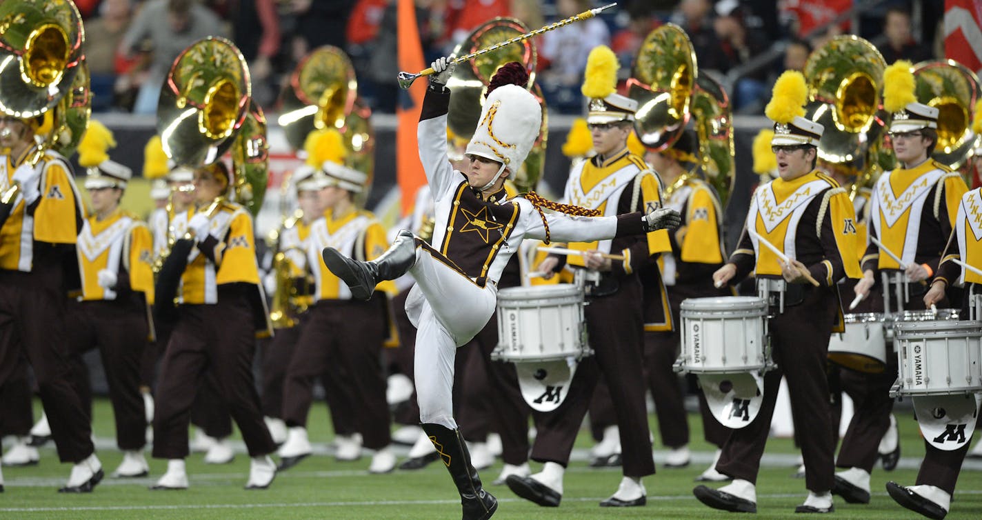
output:
[[[519,38],[527,31],[528,28],[514,18],[495,18],[481,24],[470,31],[464,41],[454,49],[455,55],[474,54],[474,59],[458,67],[447,81],[447,87],[454,92],[450,98],[450,116],[447,119],[447,127],[450,130],[448,136],[452,134],[455,139],[466,143],[477,129],[477,120],[484,105],[484,94],[498,69],[514,61],[523,65],[528,71],[526,87],[542,107],[542,125],[539,129],[539,137],[532,144],[528,157],[518,168],[513,179],[519,193],[534,190],[542,177],[549,134],[548,109],[542,89],[535,85],[538,52],[531,39]],[[494,42],[508,43],[497,44],[498,50],[494,53],[476,52],[478,49],[487,48],[488,45],[493,46]]]

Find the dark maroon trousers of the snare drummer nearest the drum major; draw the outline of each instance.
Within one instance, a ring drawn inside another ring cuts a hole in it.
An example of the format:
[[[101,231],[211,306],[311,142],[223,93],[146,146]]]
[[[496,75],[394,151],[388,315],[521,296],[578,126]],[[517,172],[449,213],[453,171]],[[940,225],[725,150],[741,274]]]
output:
[[[626,477],[655,473],[651,439],[644,404],[641,336],[641,284],[636,277],[621,280],[611,296],[591,298],[585,309],[590,346],[596,352],[579,363],[570,390],[560,407],[548,414],[535,413],[538,433],[532,460],[566,466],[579,433],[593,388],[601,375],[610,388],[621,432]]]

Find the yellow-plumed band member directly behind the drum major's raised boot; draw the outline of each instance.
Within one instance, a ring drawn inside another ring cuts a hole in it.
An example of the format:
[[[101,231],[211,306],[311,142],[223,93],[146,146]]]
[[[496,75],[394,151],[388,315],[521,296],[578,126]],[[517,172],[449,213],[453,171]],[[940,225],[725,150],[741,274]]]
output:
[[[333,140],[332,148],[342,149],[337,131],[326,137]],[[375,451],[369,473],[389,473],[396,466],[396,455],[390,445],[391,421],[381,372],[388,304],[385,298],[368,302],[355,298],[343,280],[317,260],[326,247],[365,260],[375,260],[388,247],[385,229],[375,216],[355,205],[355,195],[364,191],[368,176],[342,165],[340,159],[325,160],[319,177],[311,180],[323,183],[327,209],[311,224],[305,249],[314,274],[314,302],[284,378],[283,417],[289,431],[279,451],[280,468],[296,465],[311,452],[307,413],[314,377],[323,376],[325,393],[335,394],[331,398],[337,400],[336,406],[353,411],[361,406],[352,420],[363,445]]]

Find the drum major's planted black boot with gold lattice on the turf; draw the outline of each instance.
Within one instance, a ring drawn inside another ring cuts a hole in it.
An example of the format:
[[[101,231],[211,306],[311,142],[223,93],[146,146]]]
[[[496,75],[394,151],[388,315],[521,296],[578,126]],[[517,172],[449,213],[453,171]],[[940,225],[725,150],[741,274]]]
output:
[[[463,520],[486,520],[491,518],[498,509],[498,499],[481,488],[481,479],[477,470],[470,465],[470,453],[460,430],[450,430],[432,423],[422,425],[447,466],[457,491],[461,493],[461,505],[464,506]]]

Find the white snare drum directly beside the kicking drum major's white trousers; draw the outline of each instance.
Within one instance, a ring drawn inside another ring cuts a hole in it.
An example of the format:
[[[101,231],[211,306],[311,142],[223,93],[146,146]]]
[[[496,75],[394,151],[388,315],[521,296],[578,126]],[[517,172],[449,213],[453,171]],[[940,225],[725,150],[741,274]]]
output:
[[[498,346],[492,358],[521,363],[589,354],[580,287],[561,283],[498,291]]]

